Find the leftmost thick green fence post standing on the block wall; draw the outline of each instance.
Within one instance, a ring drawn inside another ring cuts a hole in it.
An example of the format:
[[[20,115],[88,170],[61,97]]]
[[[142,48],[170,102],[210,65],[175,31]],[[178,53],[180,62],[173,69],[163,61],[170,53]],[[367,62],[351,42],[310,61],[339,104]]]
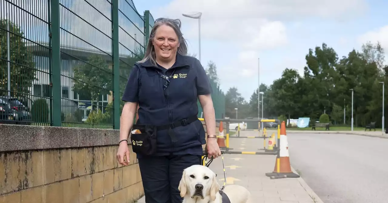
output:
[[[51,0],[51,95],[52,125],[62,126],[61,119],[61,41],[60,41],[60,9],[59,0]]]

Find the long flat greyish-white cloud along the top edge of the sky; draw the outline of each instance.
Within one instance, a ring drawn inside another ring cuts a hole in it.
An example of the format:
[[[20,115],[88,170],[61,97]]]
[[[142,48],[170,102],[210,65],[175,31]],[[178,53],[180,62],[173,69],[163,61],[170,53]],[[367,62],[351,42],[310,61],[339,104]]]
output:
[[[203,12],[207,19],[217,20],[290,20],[305,17],[335,19],[354,12],[359,15],[365,8],[364,0],[173,0],[157,12],[163,16],[182,12]]]

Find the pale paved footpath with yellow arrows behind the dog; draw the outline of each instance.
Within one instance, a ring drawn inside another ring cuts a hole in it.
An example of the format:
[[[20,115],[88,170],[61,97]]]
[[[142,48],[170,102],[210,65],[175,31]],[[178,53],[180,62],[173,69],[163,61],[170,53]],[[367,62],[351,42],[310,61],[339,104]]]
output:
[[[240,136],[257,136],[255,131],[241,131]],[[231,138],[233,151],[260,151],[261,138]],[[323,203],[302,178],[270,179],[265,173],[272,172],[275,155],[224,154],[226,182],[246,187],[255,203]],[[290,157],[292,159],[292,157]],[[217,158],[210,164],[217,174],[218,183],[224,182],[222,159]],[[294,171],[296,173],[296,171]],[[142,197],[139,203],[145,203]]]

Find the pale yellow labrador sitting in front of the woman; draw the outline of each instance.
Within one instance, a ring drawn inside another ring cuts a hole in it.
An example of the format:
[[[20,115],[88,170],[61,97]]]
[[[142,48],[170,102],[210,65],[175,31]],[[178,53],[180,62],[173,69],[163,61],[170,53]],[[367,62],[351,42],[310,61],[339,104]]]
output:
[[[182,203],[225,203],[219,192],[216,174],[204,165],[187,167],[178,186]],[[248,203],[251,194],[239,185],[228,185],[223,189],[230,203]],[[225,195],[224,194],[224,195]],[[253,202],[253,201],[252,201]]]

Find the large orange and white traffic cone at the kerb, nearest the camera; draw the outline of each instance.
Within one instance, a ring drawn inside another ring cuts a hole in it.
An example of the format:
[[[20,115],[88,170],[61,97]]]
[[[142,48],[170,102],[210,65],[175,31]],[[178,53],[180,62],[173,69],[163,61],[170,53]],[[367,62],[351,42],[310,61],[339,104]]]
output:
[[[286,123],[282,121],[280,126],[280,143],[279,150],[275,161],[275,168],[272,173],[266,173],[266,176],[271,179],[284,178],[284,177],[300,177],[291,170],[289,152],[288,152],[288,140],[286,134]]]

